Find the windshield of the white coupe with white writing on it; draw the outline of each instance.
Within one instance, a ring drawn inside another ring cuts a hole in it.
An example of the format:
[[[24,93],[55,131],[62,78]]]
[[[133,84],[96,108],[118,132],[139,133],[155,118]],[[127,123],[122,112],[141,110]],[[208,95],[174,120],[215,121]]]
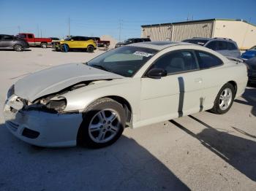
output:
[[[145,47],[118,47],[92,59],[87,65],[132,77],[156,53],[157,50]]]

